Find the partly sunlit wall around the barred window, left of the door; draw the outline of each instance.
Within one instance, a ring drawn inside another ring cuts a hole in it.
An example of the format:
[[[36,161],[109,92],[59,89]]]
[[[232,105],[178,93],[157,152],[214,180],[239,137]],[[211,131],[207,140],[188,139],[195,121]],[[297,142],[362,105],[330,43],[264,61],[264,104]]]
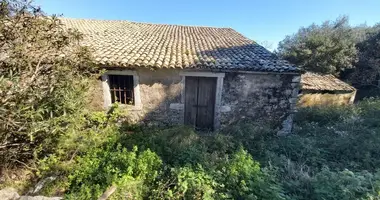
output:
[[[181,101],[181,76],[178,70],[139,69],[140,99],[142,106],[126,106],[122,108],[128,113],[128,121],[146,124],[181,124],[183,114],[181,110],[170,109],[173,103]],[[102,81],[98,80],[91,89],[91,103],[93,110],[104,110]],[[98,91],[98,92],[95,92]],[[99,95],[100,94],[100,95]]]

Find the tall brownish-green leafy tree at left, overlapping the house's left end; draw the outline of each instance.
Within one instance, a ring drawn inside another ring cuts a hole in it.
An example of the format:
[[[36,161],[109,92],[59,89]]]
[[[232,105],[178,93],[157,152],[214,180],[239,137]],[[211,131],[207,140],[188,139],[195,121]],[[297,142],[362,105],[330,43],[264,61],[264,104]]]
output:
[[[0,1],[1,164],[49,149],[80,109],[93,70],[81,38],[27,0]]]

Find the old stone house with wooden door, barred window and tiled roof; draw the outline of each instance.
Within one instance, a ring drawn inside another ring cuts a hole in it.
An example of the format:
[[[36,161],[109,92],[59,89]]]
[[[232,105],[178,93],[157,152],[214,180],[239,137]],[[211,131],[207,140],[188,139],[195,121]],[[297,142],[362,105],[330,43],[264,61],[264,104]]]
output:
[[[61,20],[84,34],[106,69],[93,92],[102,108],[119,102],[133,121],[200,129],[291,122],[298,68],[231,28]]]

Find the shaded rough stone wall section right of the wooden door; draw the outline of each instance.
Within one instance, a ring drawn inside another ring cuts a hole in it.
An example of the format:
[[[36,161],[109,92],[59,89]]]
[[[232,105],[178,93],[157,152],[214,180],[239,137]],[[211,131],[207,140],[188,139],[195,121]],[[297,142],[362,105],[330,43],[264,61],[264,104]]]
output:
[[[226,73],[222,94],[222,126],[240,119],[284,121],[295,108],[299,76]]]

